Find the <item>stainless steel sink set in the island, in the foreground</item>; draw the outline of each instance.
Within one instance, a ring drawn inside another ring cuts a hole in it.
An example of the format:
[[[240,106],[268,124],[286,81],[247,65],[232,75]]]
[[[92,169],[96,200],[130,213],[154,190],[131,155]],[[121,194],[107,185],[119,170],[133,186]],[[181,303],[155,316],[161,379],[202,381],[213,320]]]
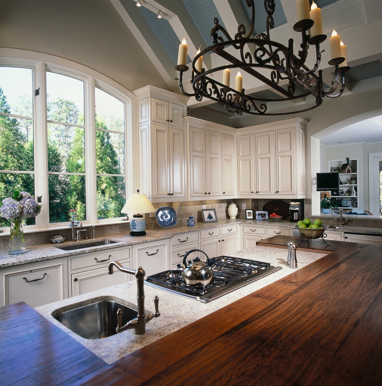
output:
[[[138,315],[137,310],[117,301],[101,300],[52,316],[82,338],[102,339],[116,334],[118,308],[123,311],[123,325]]]

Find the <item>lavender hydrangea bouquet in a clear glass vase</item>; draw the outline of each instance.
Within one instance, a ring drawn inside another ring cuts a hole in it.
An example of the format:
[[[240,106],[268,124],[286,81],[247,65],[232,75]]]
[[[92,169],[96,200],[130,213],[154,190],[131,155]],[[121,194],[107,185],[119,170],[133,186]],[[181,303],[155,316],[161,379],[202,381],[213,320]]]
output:
[[[27,192],[15,189],[12,197],[4,198],[0,203],[0,216],[11,221],[10,247],[14,237],[25,243],[22,223],[25,218],[36,217],[41,212],[41,205]],[[25,250],[25,246],[24,246]]]

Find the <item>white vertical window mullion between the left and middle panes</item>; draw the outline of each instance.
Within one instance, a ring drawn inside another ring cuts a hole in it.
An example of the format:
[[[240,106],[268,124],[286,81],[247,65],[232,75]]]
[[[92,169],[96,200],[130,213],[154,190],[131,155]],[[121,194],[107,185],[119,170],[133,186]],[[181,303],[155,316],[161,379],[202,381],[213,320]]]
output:
[[[49,226],[49,191],[48,191],[48,150],[46,117],[46,82],[45,63],[38,62],[35,68],[34,89],[40,93],[34,96],[34,170],[35,197],[42,196],[41,213],[36,217],[36,225],[46,229]]]

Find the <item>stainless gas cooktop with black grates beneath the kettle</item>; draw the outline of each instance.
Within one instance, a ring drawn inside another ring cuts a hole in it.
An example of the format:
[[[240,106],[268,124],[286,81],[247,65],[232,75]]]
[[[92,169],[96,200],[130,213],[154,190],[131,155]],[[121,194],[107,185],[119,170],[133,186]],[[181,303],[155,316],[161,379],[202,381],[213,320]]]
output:
[[[214,271],[214,280],[205,287],[185,284],[180,264],[179,269],[147,276],[145,284],[207,303],[281,269],[269,263],[230,256],[214,257],[210,259],[210,266]]]

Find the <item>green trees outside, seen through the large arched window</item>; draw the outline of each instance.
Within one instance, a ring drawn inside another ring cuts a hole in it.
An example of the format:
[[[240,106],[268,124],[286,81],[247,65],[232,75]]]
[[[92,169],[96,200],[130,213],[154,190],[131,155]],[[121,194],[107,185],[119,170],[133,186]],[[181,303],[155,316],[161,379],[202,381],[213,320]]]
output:
[[[22,98],[20,101],[22,102]],[[25,112],[30,111],[30,106],[24,104]],[[1,88],[0,111],[10,113],[10,107]],[[49,103],[48,119],[83,124],[83,117],[79,116],[76,105],[62,98],[57,98],[55,102]],[[32,121],[0,115],[1,170],[34,170],[33,127],[30,122]],[[96,128],[108,129],[104,121],[98,120],[97,117]],[[112,136],[113,133],[96,130],[96,170],[99,174],[125,173],[123,135],[118,135],[117,141],[115,139],[113,141]],[[65,124],[49,124],[48,170],[57,173],[85,173],[84,142],[84,129]],[[49,174],[48,178],[49,202],[44,200],[42,204],[49,205],[49,222],[69,221],[69,210],[72,208],[77,209],[77,220],[85,220],[85,176]],[[0,201],[12,196],[15,188],[34,195],[34,174],[0,173]],[[125,201],[124,177],[97,177],[97,216],[99,219],[123,217],[121,209]],[[34,223],[35,218],[28,218],[26,225]],[[7,227],[10,226],[10,223],[0,219],[0,226]]]

